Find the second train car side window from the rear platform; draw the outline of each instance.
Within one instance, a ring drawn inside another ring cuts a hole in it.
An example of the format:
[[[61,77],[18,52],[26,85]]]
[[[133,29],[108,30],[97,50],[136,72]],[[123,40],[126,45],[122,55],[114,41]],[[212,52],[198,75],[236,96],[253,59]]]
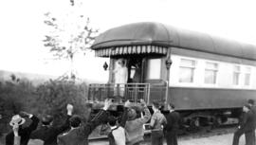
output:
[[[217,80],[218,63],[206,63],[205,83],[215,84]]]

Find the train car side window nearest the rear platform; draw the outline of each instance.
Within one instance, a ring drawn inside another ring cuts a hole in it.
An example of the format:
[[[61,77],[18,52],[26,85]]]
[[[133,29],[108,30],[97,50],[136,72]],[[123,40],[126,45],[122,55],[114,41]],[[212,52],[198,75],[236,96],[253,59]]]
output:
[[[179,82],[193,82],[195,61],[181,59],[179,66]]]

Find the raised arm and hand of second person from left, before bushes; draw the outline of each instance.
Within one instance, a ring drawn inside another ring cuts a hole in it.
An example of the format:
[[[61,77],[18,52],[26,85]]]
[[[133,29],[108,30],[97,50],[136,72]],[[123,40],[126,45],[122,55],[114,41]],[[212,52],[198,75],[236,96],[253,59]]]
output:
[[[67,104],[66,110],[67,110],[67,117],[64,121],[64,124],[56,128],[56,133],[58,135],[63,133],[65,130],[67,130],[69,128],[69,118],[71,118],[72,113],[73,113],[73,105]]]

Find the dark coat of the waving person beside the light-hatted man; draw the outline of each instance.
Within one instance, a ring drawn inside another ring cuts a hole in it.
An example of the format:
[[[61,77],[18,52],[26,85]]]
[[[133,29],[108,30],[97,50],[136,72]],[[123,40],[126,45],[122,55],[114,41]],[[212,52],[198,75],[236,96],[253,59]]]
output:
[[[41,126],[39,129],[33,131],[30,135],[31,139],[41,139],[44,145],[57,145],[57,136],[69,129],[69,118],[67,116],[65,122],[61,126]]]

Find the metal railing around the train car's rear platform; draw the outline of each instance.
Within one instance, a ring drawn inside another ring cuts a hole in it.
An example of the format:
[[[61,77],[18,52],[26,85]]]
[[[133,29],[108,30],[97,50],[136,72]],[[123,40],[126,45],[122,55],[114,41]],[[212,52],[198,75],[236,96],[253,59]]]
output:
[[[89,84],[89,101],[103,101],[107,98],[122,100],[145,100],[148,104],[153,100],[164,101],[166,99],[165,85],[150,83],[91,83]]]

